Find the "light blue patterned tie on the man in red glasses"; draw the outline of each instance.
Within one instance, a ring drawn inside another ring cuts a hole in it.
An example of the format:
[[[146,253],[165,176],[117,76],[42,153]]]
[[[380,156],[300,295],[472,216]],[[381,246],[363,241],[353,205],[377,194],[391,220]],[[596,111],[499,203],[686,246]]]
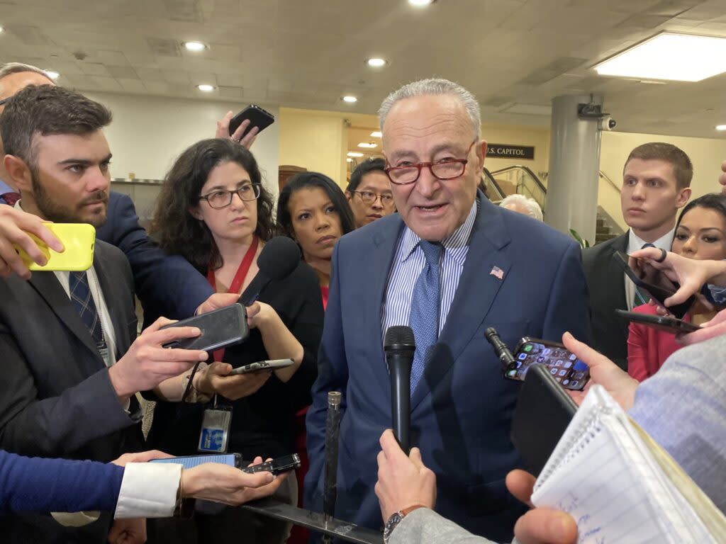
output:
[[[411,368],[411,396],[423,376],[423,369],[431,356],[433,345],[439,338],[439,259],[444,250],[441,244],[425,240],[421,240],[418,245],[423,251],[426,263],[418,275],[411,298],[409,326],[416,339],[416,352]]]

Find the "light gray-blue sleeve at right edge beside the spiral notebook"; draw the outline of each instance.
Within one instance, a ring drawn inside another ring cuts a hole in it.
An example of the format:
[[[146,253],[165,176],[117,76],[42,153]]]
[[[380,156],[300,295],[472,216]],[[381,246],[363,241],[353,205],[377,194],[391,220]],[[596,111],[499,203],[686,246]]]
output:
[[[673,353],[638,386],[635,421],[726,511],[726,335]]]

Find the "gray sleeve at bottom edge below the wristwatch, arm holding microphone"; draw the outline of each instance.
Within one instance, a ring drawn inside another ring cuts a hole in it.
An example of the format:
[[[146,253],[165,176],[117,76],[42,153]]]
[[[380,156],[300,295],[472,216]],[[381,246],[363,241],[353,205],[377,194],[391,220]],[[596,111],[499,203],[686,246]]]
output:
[[[417,508],[393,529],[389,544],[493,544],[428,508]]]

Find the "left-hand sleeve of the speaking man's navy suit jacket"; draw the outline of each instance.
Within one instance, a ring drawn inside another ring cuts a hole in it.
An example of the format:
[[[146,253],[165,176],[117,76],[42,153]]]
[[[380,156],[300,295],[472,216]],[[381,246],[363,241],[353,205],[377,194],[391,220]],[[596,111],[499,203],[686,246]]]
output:
[[[312,405],[306,419],[307,447],[310,466],[305,476],[304,502],[306,508],[322,511],[320,485],[325,465],[325,420],[327,418],[327,393],[343,392],[340,403],[340,421],[346,413],[346,384],[348,360],[343,341],[343,321],[340,317],[340,282],[338,280],[338,248],[333,250],[333,274],[330,277],[330,293],[325,309],[325,325],[318,352],[318,374],[311,391]]]

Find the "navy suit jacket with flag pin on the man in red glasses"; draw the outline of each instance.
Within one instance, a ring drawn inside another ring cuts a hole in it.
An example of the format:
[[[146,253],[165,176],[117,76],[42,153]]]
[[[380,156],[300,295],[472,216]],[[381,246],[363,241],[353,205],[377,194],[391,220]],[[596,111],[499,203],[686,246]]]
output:
[[[501,210],[483,195],[446,324],[411,403],[411,444],[436,473],[436,510],[478,535],[509,541],[525,508],[505,489],[521,466],[510,440],[520,383],[502,378],[484,339],[494,326],[514,346],[526,335],[590,339],[577,244],[543,223]],[[378,529],[373,487],[378,439],[391,427],[381,310],[404,227],[398,214],[343,236],[333,276],[307,419],[306,503],[321,510],[327,392],[343,392],[336,516]],[[504,279],[490,272],[498,266]],[[400,323],[406,324],[406,323]]]

